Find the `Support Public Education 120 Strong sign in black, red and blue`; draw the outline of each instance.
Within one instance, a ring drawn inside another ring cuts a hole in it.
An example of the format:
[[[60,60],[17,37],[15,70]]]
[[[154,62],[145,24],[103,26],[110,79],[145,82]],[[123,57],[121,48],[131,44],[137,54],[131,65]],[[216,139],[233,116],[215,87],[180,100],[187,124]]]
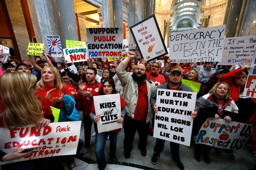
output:
[[[122,53],[123,28],[86,28],[91,57],[118,57]]]

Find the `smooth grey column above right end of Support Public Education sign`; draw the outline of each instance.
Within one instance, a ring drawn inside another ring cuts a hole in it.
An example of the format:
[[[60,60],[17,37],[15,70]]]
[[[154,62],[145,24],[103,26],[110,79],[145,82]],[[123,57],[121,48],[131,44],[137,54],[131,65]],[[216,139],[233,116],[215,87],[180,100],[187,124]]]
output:
[[[113,2],[113,27],[123,27],[123,5],[120,0]]]

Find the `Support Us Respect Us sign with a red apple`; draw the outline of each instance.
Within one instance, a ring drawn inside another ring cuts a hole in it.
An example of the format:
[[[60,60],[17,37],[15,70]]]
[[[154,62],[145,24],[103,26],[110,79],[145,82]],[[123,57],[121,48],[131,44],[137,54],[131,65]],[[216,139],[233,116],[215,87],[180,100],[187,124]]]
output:
[[[240,149],[251,136],[254,126],[208,118],[200,128],[196,143],[223,149]]]

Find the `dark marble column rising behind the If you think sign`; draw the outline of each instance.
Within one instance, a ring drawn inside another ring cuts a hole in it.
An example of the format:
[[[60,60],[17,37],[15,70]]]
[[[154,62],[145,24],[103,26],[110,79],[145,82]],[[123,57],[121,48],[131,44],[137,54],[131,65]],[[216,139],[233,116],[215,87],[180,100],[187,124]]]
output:
[[[238,25],[242,1],[232,0],[230,4],[228,19],[226,21],[225,38],[234,37]]]

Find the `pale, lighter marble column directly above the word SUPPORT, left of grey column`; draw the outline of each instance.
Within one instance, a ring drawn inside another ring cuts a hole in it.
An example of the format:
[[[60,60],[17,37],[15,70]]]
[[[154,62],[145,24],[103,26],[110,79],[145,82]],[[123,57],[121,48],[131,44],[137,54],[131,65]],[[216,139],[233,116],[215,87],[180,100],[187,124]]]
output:
[[[113,27],[113,3],[112,0],[102,0],[103,20],[105,27]]]

